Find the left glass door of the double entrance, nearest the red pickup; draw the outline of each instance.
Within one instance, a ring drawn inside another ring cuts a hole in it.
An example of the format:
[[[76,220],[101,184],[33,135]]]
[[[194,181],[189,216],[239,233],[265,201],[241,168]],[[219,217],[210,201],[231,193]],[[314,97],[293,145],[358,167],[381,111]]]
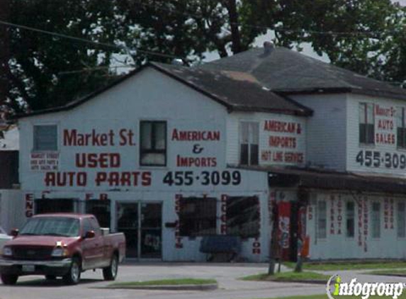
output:
[[[117,231],[123,232],[127,244],[126,256],[138,257],[139,203],[117,203]]]

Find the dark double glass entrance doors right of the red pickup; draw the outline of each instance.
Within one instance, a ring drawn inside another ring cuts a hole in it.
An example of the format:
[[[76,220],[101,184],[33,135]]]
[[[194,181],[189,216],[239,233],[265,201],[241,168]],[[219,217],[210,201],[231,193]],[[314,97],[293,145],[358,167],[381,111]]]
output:
[[[125,235],[128,258],[162,258],[162,203],[118,202],[116,223]]]

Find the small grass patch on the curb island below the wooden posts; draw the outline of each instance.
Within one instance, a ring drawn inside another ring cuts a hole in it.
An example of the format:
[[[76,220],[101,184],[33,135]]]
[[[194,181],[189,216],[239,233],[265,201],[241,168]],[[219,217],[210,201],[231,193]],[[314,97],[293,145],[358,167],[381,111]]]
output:
[[[325,281],[327,283],[329,276],[315,272],[281,272],[269,276],[267,273],[261,273],[241,278],[243,281]]]

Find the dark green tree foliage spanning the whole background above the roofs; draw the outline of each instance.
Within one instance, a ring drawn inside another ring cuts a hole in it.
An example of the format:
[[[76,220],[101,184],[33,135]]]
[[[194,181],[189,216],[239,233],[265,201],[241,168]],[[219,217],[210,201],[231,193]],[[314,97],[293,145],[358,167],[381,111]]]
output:
[[[0,1],[10,4],[0,21],[123,45],[0,26],[0,88],[8,84],[6,104],[14,111],[62,105],[107,84],[117,76],[108,67],[118,54],[131,56],[134,66],[174,57],[191,64],[206,52],[248,50],[270,32],[276,45],[310,43],[340,67],[406,79],[405,8],[390,0]]]

